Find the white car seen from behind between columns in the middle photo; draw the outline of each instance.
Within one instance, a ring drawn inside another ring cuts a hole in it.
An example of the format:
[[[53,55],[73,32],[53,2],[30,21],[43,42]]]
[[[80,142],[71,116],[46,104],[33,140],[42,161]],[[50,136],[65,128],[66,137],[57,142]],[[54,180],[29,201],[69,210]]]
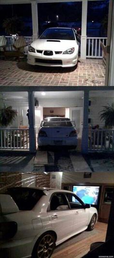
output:
[[[68,146],[76,148],[78,136],[75,122],[68,118],[46,118],[41,122],[38,132],[38,147]]]

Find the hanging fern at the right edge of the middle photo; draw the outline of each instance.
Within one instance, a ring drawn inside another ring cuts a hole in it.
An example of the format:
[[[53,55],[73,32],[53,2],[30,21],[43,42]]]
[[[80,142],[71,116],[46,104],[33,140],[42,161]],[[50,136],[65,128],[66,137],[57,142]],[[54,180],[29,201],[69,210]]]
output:
[[[105,121],[105,126],[112,128],[114,126],[114,103],[112,105],[103,106],[100,111],[100,120]]]

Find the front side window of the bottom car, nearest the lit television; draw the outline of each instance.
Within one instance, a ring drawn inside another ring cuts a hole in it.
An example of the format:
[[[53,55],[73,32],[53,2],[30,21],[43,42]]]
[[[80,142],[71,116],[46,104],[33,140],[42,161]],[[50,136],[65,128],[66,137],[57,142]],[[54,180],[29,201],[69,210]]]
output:
[[[70,203],[71,209],[83,208],[84,204],[78,197],[71,193],[67,193],[66,196]]]

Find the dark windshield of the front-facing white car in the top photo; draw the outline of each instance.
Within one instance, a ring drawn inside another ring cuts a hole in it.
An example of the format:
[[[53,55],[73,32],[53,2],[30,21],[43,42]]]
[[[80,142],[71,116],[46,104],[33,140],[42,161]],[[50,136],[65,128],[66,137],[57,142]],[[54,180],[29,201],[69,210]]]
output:
[[[65,40],[75,40],[73,31],[71,29],[58,29],[51,28],[44,31],[40,37],[41,39],[65,39]]]

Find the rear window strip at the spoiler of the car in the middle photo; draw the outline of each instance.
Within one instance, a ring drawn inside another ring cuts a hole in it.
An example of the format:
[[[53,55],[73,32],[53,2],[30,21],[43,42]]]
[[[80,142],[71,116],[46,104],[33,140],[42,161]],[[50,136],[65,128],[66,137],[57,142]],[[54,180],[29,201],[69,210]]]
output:
[[[43,127],[48,127],[48,126],[52,126],[52,127],[56,127],[56,126],[75,126],[75,124],[73,124],[73,121],[59,121],[59,120],[50,120],[50,121],[42,121],[41,126]]]

